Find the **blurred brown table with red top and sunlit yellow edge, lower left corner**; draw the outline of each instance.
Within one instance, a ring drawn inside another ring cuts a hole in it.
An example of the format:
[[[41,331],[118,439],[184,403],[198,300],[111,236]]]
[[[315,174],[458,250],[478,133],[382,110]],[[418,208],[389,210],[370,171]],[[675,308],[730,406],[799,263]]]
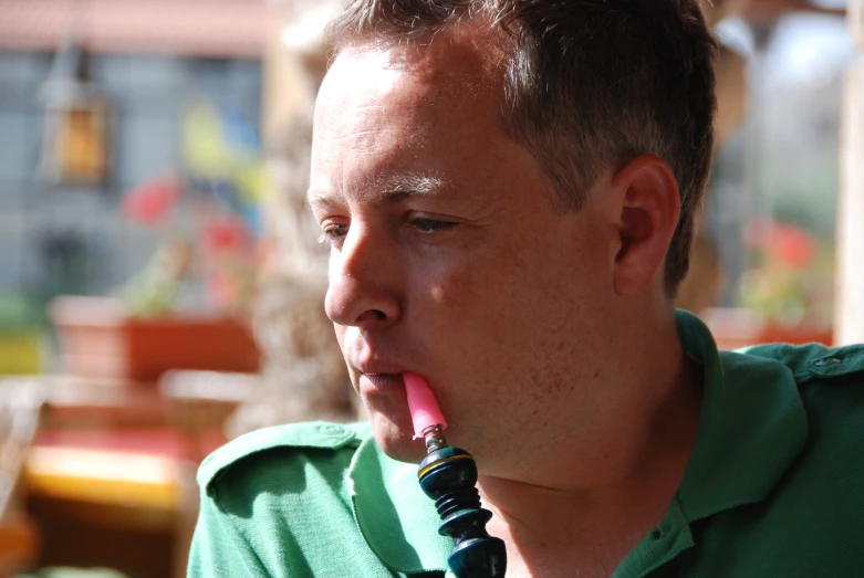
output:
[[[221,420],[238,402],[178,401],[154,385],[43,379],[42,427],[22,472],[41,535],[39,565],[184,576],[198,508],[195,472],[225,443]],[[190,403],[217,410],[189,420]]]

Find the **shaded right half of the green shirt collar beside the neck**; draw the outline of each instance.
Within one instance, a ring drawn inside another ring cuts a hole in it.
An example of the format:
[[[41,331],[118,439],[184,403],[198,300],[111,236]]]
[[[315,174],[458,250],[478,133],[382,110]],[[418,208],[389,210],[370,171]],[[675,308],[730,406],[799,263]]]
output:
[[[699,428],[678,490],[688,522],[764,500],[804,446],[808,420],[792,371],[718,351],[705,324],[676,313],[687,355],[705,371]]]

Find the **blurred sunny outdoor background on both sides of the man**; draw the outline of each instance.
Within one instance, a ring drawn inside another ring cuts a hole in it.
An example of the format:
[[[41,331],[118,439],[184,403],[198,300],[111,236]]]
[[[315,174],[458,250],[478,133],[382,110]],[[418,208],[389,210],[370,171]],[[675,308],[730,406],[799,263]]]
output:
[[[340,8],[0,1],[0,576],[184,576],[207,453],[364,417],[304,208]],[[679,306],[722,348],[862,341],[864,0],[705,9],[718,147]]]

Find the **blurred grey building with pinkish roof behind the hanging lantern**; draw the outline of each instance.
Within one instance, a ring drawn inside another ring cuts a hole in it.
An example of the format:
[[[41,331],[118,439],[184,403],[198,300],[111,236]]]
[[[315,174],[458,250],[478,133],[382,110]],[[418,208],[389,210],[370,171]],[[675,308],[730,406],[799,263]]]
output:
[[[197,103],[258,128],[267,22],[263,0],[0,2],[0,297],[104,294],[142,267],[157,239],[123,218],[124,191],[183,172]],[[40,171],[51,146],[41,96],[69,41],[90,53],[108,103],[102,182]]]

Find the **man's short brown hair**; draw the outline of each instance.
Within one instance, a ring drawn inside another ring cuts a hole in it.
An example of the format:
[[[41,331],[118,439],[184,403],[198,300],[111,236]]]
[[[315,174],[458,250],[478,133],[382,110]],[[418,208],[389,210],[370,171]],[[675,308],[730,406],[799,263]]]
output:
[[[512,39],[504,129],[541,164],[556,204],[580,209],[610,166],[669,164],[681,213],[666,254],[675,295],[710,168],[716,43],[697,0],[354,0],[335,48],[413,41],[488,21]]]

